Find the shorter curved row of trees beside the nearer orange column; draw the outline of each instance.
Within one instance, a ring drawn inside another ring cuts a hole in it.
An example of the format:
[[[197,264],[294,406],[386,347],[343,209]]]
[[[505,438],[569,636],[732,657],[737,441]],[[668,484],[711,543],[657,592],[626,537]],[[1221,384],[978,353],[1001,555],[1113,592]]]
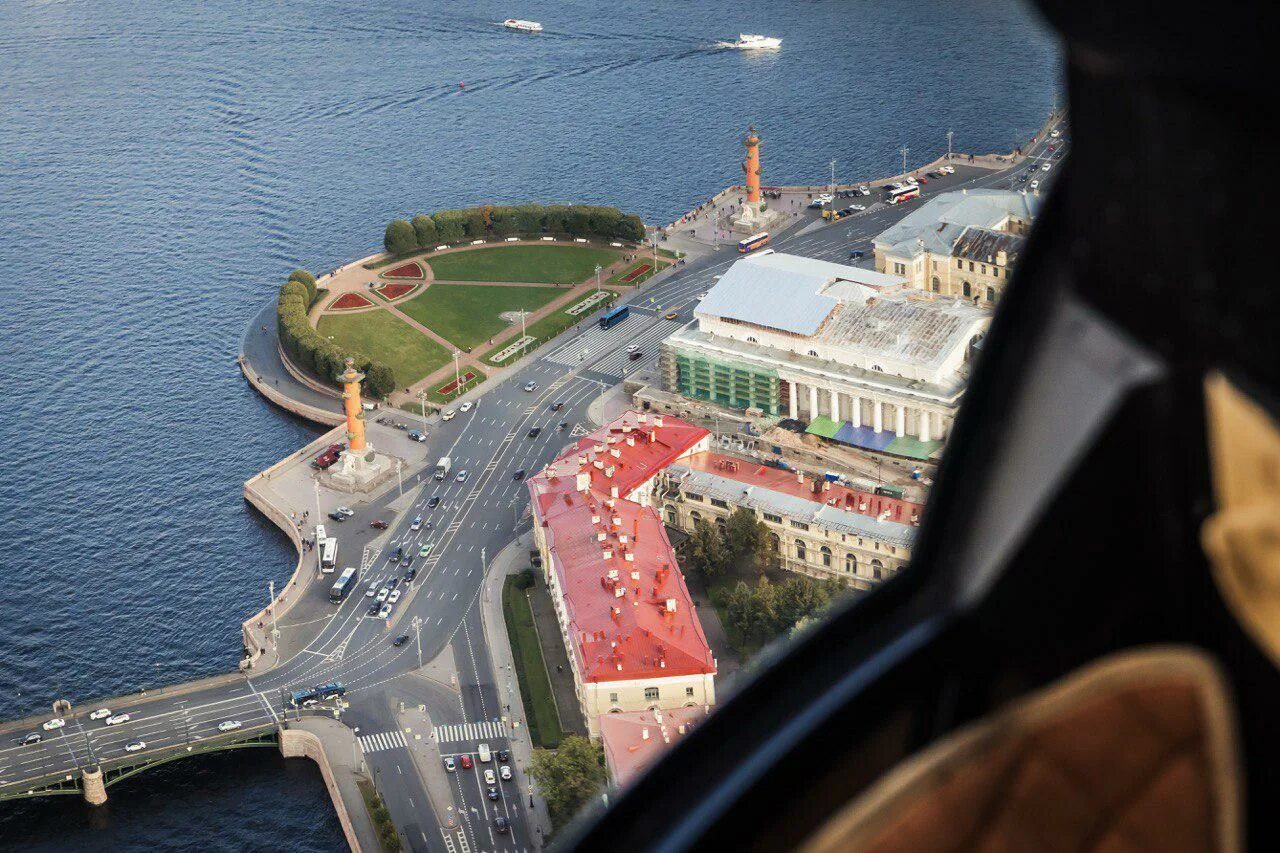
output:
[[[310,370],[328,383],[346,369],[347,357],[365,374],[365,391],[385,397],[396,389],[396,374],[381,361],[344,350],[311,325],[307,311],[316,298],[316,278],[305,269],[289,273],[275,300],[275,327],[280,345],[300,368]]]

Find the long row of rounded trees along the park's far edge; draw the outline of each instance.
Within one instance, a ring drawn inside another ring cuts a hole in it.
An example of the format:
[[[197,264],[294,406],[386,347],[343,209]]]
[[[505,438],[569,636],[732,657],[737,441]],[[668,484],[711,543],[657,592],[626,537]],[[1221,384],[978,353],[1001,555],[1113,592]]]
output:
[[[486,205],[394,219],[387,225],[383,247],[392,255],[406,255],[462,240],[534,234],[640,242],[644,223],[617,207],[596,205]]]

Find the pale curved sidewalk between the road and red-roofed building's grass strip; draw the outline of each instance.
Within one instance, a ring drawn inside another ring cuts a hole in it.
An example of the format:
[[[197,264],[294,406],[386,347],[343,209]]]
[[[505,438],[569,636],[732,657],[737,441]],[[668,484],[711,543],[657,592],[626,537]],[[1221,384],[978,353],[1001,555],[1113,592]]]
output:
[[[493,675],[498,693],[502,695],[503,703],[511,707],[508,715],[512,727],[511,752],[524,779],[529,777],[529,763],[532,760],[534,748],[529,740],[529,729],[524,722],[529,717],[525,715],[525,704],[516,685],[511,640],[507,638],[507,622],[502,617],[502,584],[507,575],[513,575],[529,566],[527,557],[532,539],[532,533],[525,533],[499,551],[489,562],[489,574],[485,575],[480,587],[480,624],[484,626],[485,643],[493,660]],[[547,803],[532,790],[532,786],[530,786],[529,794],[534,800],[534,809],[530,813],[532,826],[530,829],[534,830],[535,849],[541,849],[543,839],[550,835],[552,818],[547,813]]]

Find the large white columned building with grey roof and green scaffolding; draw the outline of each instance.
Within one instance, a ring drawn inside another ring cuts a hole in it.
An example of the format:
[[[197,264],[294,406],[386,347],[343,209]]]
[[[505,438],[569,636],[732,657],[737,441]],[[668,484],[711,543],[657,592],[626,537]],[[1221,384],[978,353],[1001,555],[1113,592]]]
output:
[[[667,391],[927,459],[951,428],[989,314],[902,278],[794,255],[735,263],[663,345]]]

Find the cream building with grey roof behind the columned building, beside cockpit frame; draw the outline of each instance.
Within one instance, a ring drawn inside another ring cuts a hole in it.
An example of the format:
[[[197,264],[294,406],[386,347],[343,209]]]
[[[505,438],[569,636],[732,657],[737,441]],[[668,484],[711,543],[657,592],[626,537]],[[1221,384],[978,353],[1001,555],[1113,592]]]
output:
[[[922,291],[989,306],[1009,282],[1038,209],[1034,193],[945,192],[876,237],[876,269]]]

